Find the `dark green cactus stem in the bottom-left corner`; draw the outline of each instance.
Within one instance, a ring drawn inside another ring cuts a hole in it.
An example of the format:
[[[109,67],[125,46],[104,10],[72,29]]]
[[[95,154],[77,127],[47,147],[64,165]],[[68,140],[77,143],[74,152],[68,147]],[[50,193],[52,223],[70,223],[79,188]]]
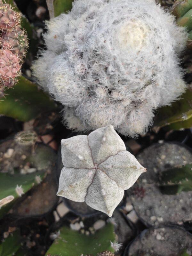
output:
[[[18,230],[9,234],[0,244],[0,256],[12,256],[20,249],[22,238]]]

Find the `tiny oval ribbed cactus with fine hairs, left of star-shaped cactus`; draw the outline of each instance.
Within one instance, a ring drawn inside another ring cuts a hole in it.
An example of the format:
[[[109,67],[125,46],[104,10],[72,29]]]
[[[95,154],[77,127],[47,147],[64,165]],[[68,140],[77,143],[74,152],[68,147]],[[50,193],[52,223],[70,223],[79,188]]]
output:
[[[37,134],[34,131],[18,132],[15,141],[23,146],[34,145],[37,140]]]

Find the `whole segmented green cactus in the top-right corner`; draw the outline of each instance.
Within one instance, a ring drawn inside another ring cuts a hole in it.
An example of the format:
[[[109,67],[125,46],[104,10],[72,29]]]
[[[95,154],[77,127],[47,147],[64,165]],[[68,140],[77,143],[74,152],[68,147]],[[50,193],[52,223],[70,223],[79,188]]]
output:
[[[188,30],[188,47],[192,48],[192,0],[177,0],[172,6],[177,24]]]

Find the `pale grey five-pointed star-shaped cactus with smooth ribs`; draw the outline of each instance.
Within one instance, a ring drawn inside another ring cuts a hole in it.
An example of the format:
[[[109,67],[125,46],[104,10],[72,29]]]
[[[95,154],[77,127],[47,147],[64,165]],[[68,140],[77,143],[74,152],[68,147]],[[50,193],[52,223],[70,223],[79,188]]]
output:
[[[112,216],[116,206],[146,169],[128,151],[112,125],[61,140],[63,169],[58,196],[86,202]]]

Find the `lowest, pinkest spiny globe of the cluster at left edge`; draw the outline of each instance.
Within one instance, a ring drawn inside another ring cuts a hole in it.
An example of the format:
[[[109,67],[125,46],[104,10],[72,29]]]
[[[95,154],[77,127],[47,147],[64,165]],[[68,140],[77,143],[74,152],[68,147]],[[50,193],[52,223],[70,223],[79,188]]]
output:
[[[0,50],[1,84],[6,87],[11,87],[15,83],[16,77],[20,76],[20,68],[20,59],[16,54],[7,49]]]

